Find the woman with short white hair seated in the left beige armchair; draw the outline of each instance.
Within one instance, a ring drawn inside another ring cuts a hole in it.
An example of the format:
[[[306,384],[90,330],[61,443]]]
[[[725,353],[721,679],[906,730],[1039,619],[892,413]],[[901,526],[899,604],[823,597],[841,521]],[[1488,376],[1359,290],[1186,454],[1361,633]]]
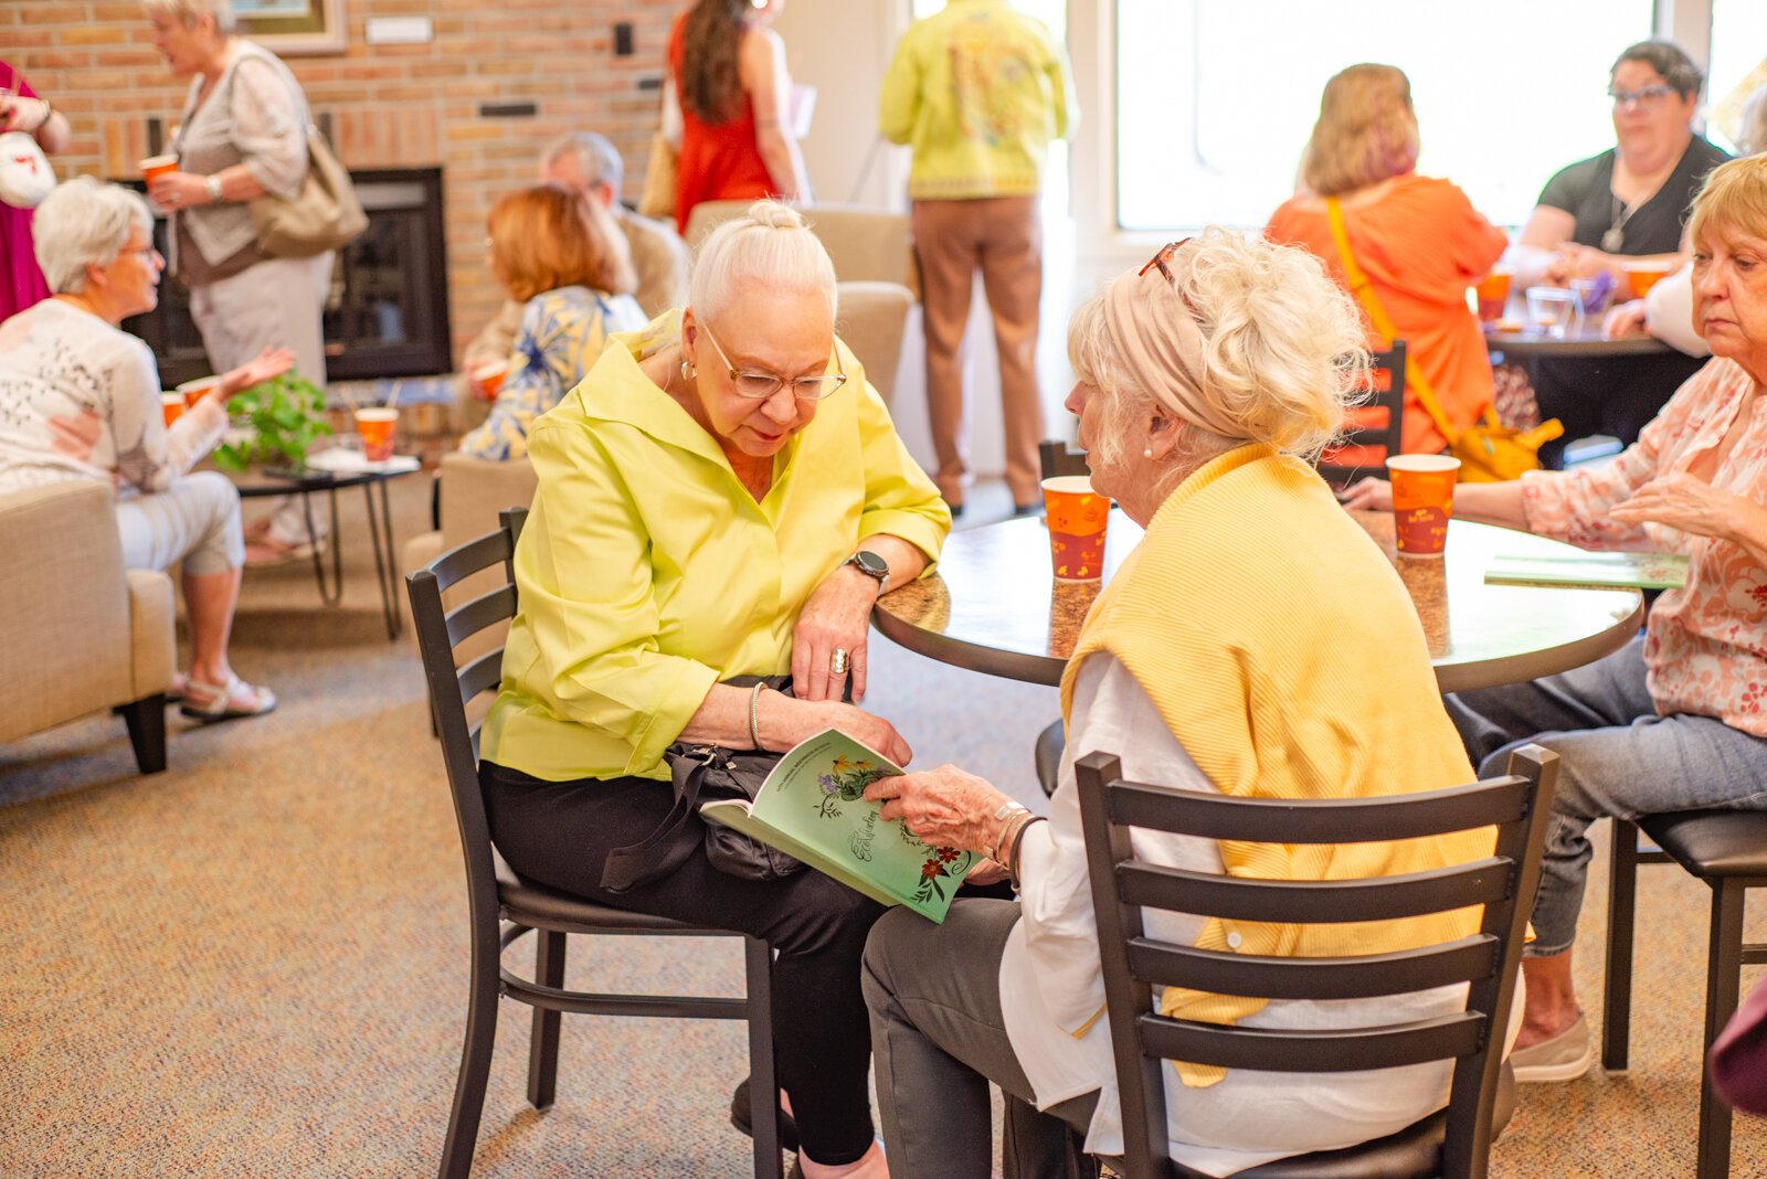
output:
[[[0,325],[0,491],[81,478],[115,487],[124,565],[182,563],[184,713],[258,717],[276,695],[240,681],[226,653],[244,563],[239,491],[191,466],[221,441],[226,399],[286,372],[293,355],[265,349],[221,374],[219,388],[168,427],[154,353],[118,328],[159,302],[166,259],[152,226],[147,201],[90,176],[37,207],[37,263],[55,295]]]

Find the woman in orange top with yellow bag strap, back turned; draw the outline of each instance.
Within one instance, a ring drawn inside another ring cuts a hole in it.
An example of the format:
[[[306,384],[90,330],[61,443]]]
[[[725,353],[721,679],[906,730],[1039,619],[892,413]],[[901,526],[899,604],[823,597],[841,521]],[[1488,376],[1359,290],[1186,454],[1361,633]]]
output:
[[[1371,297],[1392,318],[1449,424],[1465,429],[1491,404],[1491,358],[1467,307],[1467,286],[1502,258],[1509,240],[1456,185],[1419,176],[1417,150],[1405,72],[1352,65],[1325,83],[1301,161],[1302,191],[1276,210],[1263,233],[1318,254],[1348,286],[1331,224],[1336,201]],[[1369,346],[1385,348],[1387,341],[1373,334]],[[1415,381],[1405,390],[1403,425],[1399,448],[1407,454],[1447,447],[1417,401]]]

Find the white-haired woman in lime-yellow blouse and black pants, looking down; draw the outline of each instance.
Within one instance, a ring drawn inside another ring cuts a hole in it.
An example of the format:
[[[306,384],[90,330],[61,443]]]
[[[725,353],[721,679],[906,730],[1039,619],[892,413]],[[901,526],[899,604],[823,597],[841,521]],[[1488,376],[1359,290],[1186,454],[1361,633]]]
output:
[[[809,1179],[887,1174],[859,995],[880,907],[816,872],[724,875],[698,838],[620,891],[606,868],[664,824],[671,741],[786,750],[839,727],[910,755],[841,695],[850,678],[864,697],[871,604],[929,568],[951,515],[834,316],[827,252],[760,201],[700,247],[686,311],[615,335],[534,422],[521,611],[481,775],[491,835],[523,875],[772,944],[779,1077]],[[788,671],[790,695],[719,683]]]

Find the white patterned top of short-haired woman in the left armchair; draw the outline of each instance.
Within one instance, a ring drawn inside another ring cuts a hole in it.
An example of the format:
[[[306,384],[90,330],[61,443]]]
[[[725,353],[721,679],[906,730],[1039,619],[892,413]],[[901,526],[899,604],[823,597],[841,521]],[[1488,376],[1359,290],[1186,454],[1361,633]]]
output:
[[[60,298],[0,323],[0,491],[83,478],[164,491],[226,431],[219,397],[171,429],[154,353]]]

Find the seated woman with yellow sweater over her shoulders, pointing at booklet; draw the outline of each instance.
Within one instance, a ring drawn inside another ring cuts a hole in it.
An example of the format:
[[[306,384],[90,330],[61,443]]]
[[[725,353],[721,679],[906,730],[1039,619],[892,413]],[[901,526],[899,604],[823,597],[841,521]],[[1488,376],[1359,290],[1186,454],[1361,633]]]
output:
[[[1062,676],[1069,740],[1046,822],[956,766],[866,791],[928,842],[1009,861],[995,872],[1020,884],[1020,904],[959,898],[944,925],[885,914],[871,930],[864,990],[898,1179],[988,1174],[988,1080],[1007,1094],[1018,1174],[1067,1174],[1069,1128],[1092,1153],[1122,1151],[1076,754],[1117,754],[1136,782],[1233,796],[1361,798],[1472,780],[1403,582],[1304,461],[1341,425],[1362,344],[1355,304],[1316,258],[1225,229],[1168,245],[1074,316],[1067,408],[1094,487],[1147,535],[1104,586]],[[1138,830],[1134,849],[1191,872],[1341,879],[1477,860],[1491,833],[1290,849]],[[1477,920],[1276,927],[1149,914],[1149,927],[1209,950],[1309,957],[1437,944]],[[1465,997],[1465,985],[1318,1003],[1166,988],[1159,1003],[1180,1018],[1329,1029],[1431,1018]],[[1180,1063],[1182,1084],[1166,1087],[1170,1153],[1226,1175],[1354,1145],[1447,1105],[1449,1077],[1451,1063],[1329,1078]],[[915,1131],[924,1126],[938,1133]]]

